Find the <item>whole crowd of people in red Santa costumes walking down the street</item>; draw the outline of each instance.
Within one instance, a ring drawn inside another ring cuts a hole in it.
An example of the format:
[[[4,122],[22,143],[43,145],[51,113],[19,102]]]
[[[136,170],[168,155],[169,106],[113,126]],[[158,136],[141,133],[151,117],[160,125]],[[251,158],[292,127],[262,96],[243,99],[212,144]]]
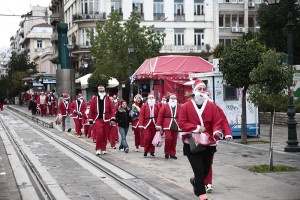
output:
[[[206,85],[197,79],[193,91],[188,94],[189,100],[180,105],[174,93],[163,96],[157,102],[153,93],[143,98],[135,95],[134,103],[128,106],[124,100],[116,95],[109,96],[104,86],[98,86],[98,93],[86,102],[82,94],[70,101],[70,96],[63,93],[56,98],[52,92],[49,94],[33,94],[29,103],[32,114],[45,116],[57,115],[56,122],[61,123],[62,131],[71,131],[70,118],[74,120],[77,137],[92,138],[96,143],[96,155],[107,154],[109,141],[112,149],[129,152],[126,136],[131,122],[134,133],[135,151],[143,148],[144,157],[155,158],[153,139],[158,132],[165,135],[165,159],[177,159],[176,146],[178,137],[183,142],[183,154],[187,156],[194,177],[190,179],[194,194],[200,200],[207,199],[206,192],[212,191],[212,163],[216,152],[217,141],[225,138],[229,141],[232,133],[222,109],[213,103]],[[57,105],[57,113],[56,113]],[[121,140],[119,147],[116,146]],[[205,146],[197,153],[191,151],[191,133],[206,133],[214,144]]]

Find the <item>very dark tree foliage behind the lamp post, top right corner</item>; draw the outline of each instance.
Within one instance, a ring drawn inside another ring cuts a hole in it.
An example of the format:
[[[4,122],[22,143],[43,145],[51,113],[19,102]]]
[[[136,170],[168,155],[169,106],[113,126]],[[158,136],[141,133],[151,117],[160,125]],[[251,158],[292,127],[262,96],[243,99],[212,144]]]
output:
[[[291,0],[281,0],[279,4],[260,4],[257,22],[260,26],[259,40],[276,51],[287,52],[287,15],[292,6],[294,23],[294,63],[300,63],[300,17],[299,4],[291,4]]]

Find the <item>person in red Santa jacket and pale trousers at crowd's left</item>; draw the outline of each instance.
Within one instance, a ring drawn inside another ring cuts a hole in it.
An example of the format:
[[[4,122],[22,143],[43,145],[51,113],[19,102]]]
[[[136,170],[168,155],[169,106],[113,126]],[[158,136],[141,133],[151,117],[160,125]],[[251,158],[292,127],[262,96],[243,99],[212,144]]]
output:
[[[62,131],[65,131],[66,128],[66,121],[68,126],[68,132],[71,131],[70,123],[68,123],[67,118],[69,118],[69,101],[70,96],[67,93],[62,94],[63,100],[60,101],[58,107],[57,107],[57,113],[62,115]]]

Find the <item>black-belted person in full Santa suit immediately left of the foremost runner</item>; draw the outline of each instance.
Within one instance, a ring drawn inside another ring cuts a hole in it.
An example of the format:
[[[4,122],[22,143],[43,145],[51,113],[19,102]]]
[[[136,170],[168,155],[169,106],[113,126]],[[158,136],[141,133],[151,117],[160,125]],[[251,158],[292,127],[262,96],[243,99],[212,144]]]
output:
[[[165,158],[177,159],[176,145],[178,137],[178,115],[180,105],[177,103],[177,97],[174,93],[170,94],[169,102],[164,104],[158,113],[156,128],[163,129],[165,136]]]

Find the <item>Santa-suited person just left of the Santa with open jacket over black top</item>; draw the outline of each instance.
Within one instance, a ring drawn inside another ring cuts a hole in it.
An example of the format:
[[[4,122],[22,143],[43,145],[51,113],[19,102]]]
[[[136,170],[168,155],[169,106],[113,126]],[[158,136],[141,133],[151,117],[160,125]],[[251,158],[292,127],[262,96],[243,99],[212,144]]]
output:
[[[77,99],[75,99],[70,104],[69,113],[75,122],[75,131],[77,133],[77,137],[80,138],[82,133],[82,115],[86,110],[86,103],[83,100],[82,94],[77,95]]]

